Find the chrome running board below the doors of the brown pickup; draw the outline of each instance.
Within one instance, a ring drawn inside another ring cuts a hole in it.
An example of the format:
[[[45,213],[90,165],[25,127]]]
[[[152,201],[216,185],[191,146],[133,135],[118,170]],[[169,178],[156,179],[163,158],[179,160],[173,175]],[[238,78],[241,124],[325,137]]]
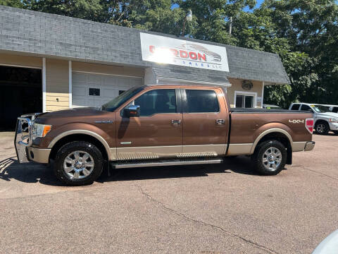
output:
[[[115,169],[127,169],[134,167],[163,167],[163,166],[182,166],[182,165],[194,165],[194,164],[219,164],[223,163],[222,158],[215,159],[172,159],[161,161],[140,161],[140,162],[111,162],[111,167]]]

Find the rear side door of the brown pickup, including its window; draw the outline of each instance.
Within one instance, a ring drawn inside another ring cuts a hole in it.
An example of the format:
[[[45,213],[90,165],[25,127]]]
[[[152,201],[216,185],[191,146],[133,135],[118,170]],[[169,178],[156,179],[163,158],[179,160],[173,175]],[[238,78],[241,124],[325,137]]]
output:
[[[228,111],[223,91],[181,88],[183,110],[183,157],[225,155]]]

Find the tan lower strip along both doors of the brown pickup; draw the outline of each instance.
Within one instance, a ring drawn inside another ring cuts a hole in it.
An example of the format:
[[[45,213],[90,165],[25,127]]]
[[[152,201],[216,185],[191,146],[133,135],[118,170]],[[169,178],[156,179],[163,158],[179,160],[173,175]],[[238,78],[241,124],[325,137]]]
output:
[[[116,151],[116,159],[161,159],[185,157],[217,157],[225,155],[227,145],[168,145],[154,147],[118,147],[111,148],[112,154]],[[115,156],[112,155],[112,158]]]

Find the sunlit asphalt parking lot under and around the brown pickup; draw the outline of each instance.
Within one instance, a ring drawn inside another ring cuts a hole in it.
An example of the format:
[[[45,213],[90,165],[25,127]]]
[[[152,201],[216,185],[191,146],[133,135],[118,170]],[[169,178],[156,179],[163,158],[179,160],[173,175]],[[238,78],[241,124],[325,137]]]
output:
[[[66,187],[0,133],[0,253],[311,253],[338,228],[338,135],[277,176],[247,157]]]

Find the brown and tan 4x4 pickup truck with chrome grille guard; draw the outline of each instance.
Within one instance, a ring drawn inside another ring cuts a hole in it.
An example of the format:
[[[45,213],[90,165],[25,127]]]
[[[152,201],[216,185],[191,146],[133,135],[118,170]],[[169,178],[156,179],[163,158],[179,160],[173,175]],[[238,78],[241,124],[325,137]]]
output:
[[[92,183],[113,168],[222,163],[251,155],[263,175],[312,150],[313,115],[306,111],[230,109],[220,86],[145,85],[101,108],[18,118],[18,161],[53,162],[69,185]]]

